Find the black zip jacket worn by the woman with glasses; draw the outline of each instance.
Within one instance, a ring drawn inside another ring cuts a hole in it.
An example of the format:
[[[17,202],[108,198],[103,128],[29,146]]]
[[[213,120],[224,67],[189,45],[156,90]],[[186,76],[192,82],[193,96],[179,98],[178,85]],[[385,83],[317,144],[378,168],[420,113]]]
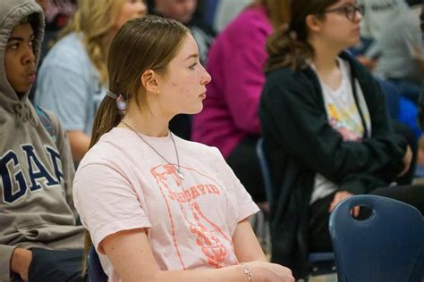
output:
[[[311,68],[267,74],[259,118],[273,177],[272,260],[306,275],[310,195],[320,173],[352,194],[384,187],[403,170],[406,140],[394,134],[385,96],[359,62],[341,54],[358,79],[371,120],[371,136],[344,142],[328,124],[321,87]]]

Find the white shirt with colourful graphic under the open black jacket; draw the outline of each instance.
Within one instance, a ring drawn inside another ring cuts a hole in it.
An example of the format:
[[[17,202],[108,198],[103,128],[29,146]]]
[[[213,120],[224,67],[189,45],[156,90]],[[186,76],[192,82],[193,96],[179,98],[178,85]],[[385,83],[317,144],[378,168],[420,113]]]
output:
[[[345,142],[360,142],[364,135],[364,127],[360,119],[360,112],[358,111],[357,104],[352,91],[351,82],[351,67],[348,62],[337,58],[340,71],[342,72],[342,82],[337,89],[328,87],[321,79],[322,94],[326,106],[326,115],[330,126],[337,130]],[[314,66],[312,68],[315,70]],[[370,134],[371,122],[369,117],[369,110],[365,103],[360,84],[355,80],[355,87],[358,95],[358,102],[360,110],[363,114],[367,130]],[[325,178],[323,175],[317,173],[315,176],[314,190],[310,197],[310,204],[315,201],[330,195],[337,190],[337,185]]]

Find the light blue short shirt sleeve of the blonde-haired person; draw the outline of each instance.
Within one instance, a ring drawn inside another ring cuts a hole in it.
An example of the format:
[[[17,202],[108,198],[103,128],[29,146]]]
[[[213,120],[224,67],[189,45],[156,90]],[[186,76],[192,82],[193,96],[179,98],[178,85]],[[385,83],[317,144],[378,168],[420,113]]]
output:
[[[81,71],[62,64],[43,64],[38,73],[36,103],[55,112],[64,129],[81,130],[87,126],[89,91]]]

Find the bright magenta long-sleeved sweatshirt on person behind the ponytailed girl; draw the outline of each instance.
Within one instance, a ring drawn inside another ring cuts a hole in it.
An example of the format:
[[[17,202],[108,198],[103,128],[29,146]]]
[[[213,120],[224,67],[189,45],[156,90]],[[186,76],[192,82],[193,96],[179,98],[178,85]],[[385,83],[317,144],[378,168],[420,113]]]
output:
[[[227,157],[246,135],[259,135],[259,97],[271,22],[262,7],[244,10],[216,37],[208,54],[212,76],[204,109],[193,118],[192,139]]]

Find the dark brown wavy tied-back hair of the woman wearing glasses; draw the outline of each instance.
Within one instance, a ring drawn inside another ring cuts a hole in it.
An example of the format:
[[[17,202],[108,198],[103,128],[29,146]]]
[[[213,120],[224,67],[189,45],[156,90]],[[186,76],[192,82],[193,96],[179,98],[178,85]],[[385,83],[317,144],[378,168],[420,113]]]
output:
[[[314,49],[308,43],[309,31],[306,17],[310,14],[323,16],[326,8],[339,0],[292,0],[289,4],[287,24],[279,26],[268,37],[268,60],[266,71],[291,66],[303,68],[314,56]]]

